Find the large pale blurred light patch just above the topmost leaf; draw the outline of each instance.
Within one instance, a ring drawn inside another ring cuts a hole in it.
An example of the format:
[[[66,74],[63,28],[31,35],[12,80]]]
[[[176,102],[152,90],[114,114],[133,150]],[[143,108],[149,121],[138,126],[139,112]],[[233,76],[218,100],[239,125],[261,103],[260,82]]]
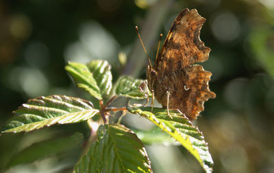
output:
[[[67,46],[66,61],[87,63],[92,59],[116,61],[120,45],[114,37],[97,22],[84,24],[79,31],[79,41]]]

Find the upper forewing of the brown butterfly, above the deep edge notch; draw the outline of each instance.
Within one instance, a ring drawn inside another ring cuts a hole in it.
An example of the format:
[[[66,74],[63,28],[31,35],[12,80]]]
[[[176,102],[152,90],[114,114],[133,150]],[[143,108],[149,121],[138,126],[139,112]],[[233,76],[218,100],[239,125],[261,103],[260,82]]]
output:
[[[171,25],[153,69],[164,74],[208,60],[210,48],[200,40],[205,18],[197,10],[182,10]]]

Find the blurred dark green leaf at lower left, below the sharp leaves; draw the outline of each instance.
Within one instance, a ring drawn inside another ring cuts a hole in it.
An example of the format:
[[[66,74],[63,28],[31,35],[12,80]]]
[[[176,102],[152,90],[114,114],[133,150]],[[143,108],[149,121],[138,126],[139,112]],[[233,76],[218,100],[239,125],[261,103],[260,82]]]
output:
[[[60,154],[69,150],[75,149],[80,146],[83,142],[83,135],[81,133],[75,133],[73,136],[62,137],[53,140],[46,140],[32,144],[23,151],[14,155],[7,168],[16,166],[18,164],[30,163],[36,161],[37,159],[43,159],[52,154]]]

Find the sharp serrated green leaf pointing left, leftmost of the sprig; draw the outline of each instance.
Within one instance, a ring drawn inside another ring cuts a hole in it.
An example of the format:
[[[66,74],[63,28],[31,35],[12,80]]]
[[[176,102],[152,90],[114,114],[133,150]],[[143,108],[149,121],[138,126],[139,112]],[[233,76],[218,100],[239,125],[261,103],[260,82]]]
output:
[[[65,95],[41,96],[29,99],[27,104],[14,111],[16,116],[2,133],[33,131],[54,124],[79,123],[90,119],[98,112],[90,101],[84,99]]]

